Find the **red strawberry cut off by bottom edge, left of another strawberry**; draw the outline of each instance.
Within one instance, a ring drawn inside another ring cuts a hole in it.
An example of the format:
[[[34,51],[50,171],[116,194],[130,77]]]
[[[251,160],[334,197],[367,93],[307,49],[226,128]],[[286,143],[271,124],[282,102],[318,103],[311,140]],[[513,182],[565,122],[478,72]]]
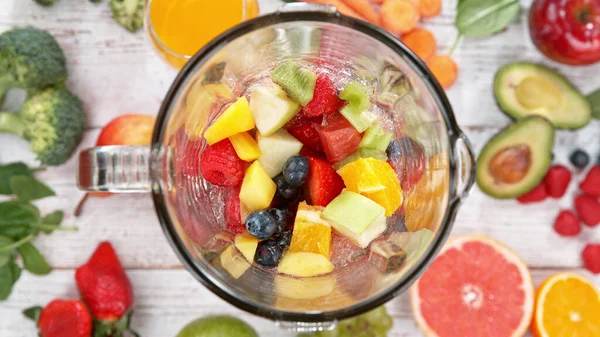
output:
[[[40,313],[38,329],[40,337],[90,337],[92,317],[82,301],[56,299]]]

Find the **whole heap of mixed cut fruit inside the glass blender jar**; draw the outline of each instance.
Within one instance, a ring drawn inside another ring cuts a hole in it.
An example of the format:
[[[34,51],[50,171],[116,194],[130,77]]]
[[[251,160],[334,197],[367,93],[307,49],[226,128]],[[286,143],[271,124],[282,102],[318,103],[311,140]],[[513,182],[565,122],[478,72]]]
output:
[[[209,100],[203,112],[214,117],[205,126],[189,117],[197,113],[191,106],[186,120],[196,121],[196,129],[184,122],[177,133],[177,149],[187,157],[177,169],[178,193],[203,217],[214,215],[210,228],[195,228],[200,221],[190,216],[191,224],[182,224],[193,241],[205,235],[196,242],[209,252],[205,258],[220,256],[216,261],[235,279],[261,270],[277,275],[278,289],[298,283],[298,291],[288,287],[285,294],[295,299],[315,294],[281,276],[314,278],[333,291],[329,275],[353,266],[368,264],[385,277],[412,265],[419,258],[415,245],[389,240],[400,232],[410,237],[406,195],[428,204],[417,208],[428,210],[418,224],[410,217],[415,233],[437,228],[448,182],[439,174],[446,167],[430,158],[447,154],[398,131],[392,115],[403,111],[378,104],[368,81],[301,61],[265,75],[236,95]]]

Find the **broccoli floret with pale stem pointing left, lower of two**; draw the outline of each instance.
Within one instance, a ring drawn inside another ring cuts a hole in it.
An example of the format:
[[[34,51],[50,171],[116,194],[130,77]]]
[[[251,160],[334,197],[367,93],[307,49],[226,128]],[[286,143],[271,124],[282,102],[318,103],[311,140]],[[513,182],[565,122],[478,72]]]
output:
[[[43,165],[66,162],[85,127],[83,103],[60,86],[31,92],[20,113],[0,112],[0,132],[29,140],[31,151]]]

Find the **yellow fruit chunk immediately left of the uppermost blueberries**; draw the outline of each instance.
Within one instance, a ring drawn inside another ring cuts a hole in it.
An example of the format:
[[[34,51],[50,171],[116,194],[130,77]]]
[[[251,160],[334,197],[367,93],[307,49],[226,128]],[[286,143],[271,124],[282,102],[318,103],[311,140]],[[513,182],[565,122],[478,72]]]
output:
[[[275,196],[277,185],[269,177],[258,161],[255,161],[246,170],[242,188],[240,189],[240,202],[249,212],[265,209],[271,205]]]

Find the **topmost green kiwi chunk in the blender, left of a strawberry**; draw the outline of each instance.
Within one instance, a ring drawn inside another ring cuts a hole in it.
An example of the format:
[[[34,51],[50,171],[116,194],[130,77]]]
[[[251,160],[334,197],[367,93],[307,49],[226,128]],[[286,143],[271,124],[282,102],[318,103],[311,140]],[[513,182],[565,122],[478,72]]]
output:
[[[271,79],[282,87],[294,102],[305,106],[313,98],[317,74],[296,62],[288,61],[271,71]]]

